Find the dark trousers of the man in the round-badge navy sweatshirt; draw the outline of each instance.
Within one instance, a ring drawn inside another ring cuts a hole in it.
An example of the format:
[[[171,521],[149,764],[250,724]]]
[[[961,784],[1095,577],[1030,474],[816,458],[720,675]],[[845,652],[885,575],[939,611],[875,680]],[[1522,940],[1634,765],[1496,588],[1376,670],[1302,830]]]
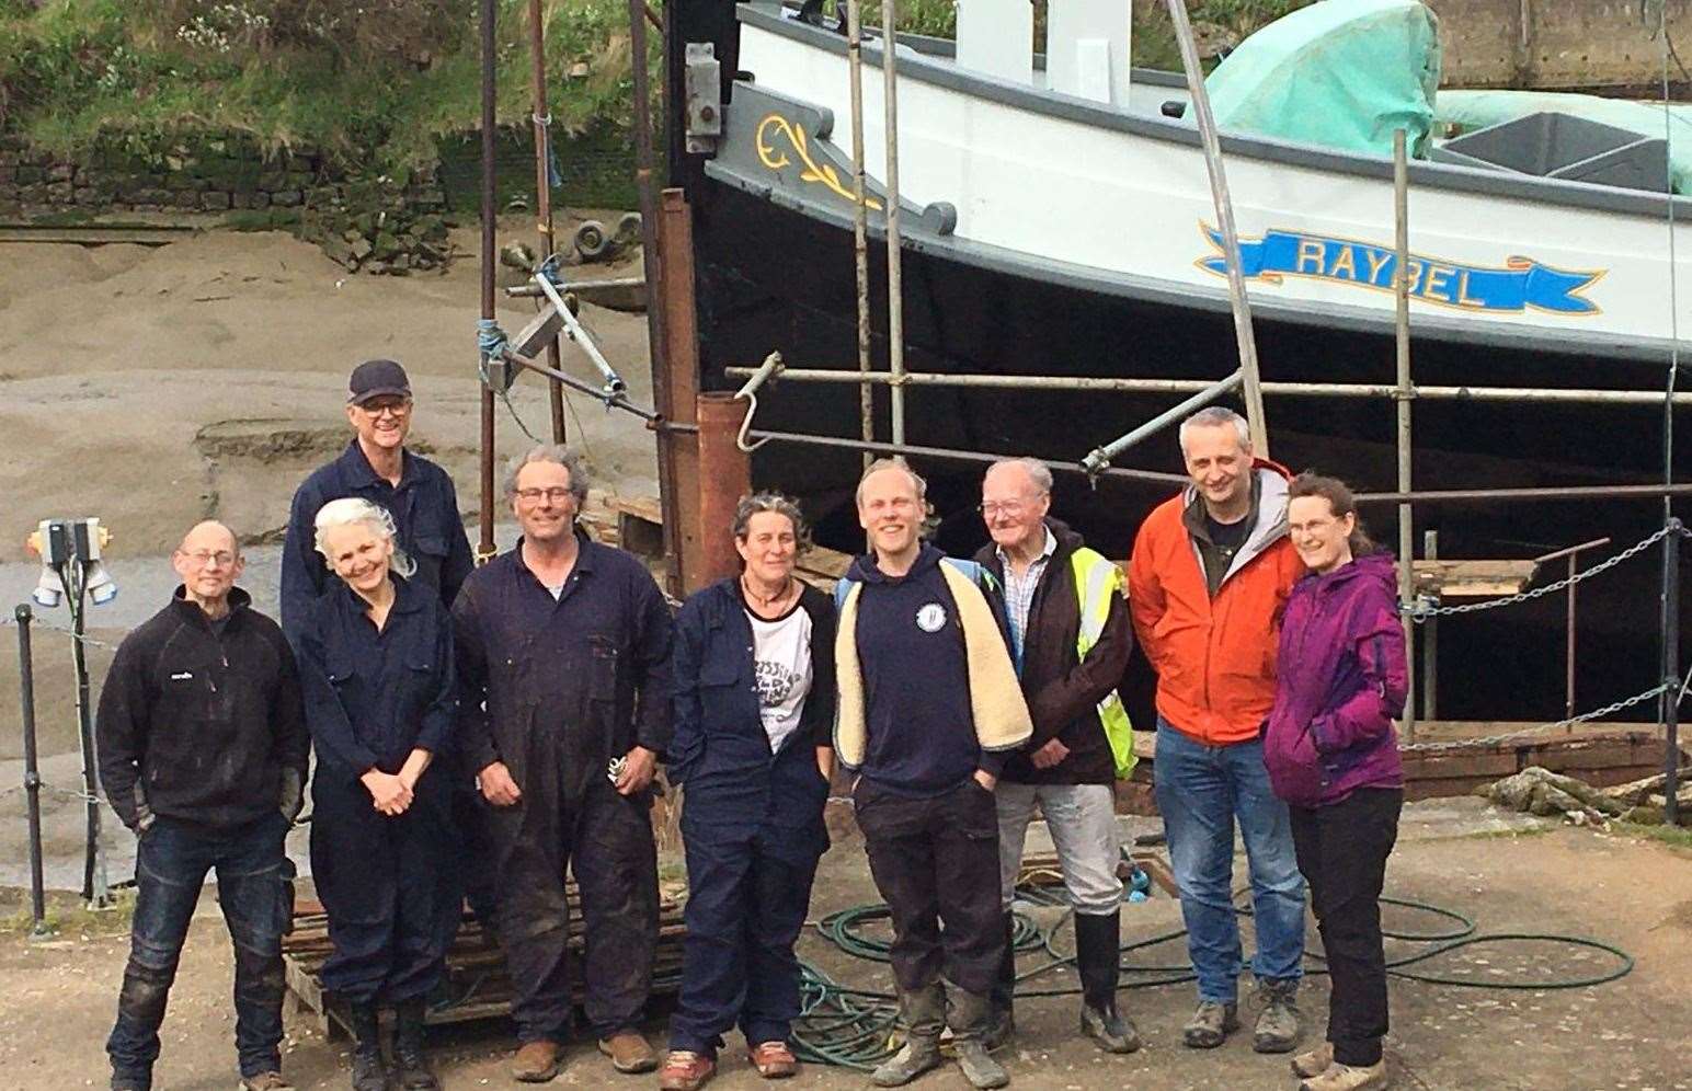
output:
[[[893,978],[915,993],[941,978],[992,993],[1005,952],[998,812],[975,778],[912,798],[861,778],[853,790],[870,874],[893,917]]]

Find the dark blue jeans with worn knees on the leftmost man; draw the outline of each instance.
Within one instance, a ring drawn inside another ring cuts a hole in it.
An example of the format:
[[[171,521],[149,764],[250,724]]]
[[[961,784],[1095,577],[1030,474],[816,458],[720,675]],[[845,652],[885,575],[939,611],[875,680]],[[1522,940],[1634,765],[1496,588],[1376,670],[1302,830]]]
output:
[[[281,1069],[283,1040],[283,837],[271,812],[235,829],[157,819],[135,851],[135,918],[129,964],[107,1040],[113,1076],[140,1084],[159,1059],[159,1025],[200,902],[217,871],[218,905],[235,946],[235,1050],[242,1076]]]

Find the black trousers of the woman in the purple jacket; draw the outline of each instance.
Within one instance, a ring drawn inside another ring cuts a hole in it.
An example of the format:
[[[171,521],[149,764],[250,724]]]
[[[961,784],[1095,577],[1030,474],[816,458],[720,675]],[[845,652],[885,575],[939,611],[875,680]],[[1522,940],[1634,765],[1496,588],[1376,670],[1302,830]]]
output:
[[[1359,788],[1328,807],[1291,809],[1298,869],[1310,881],[1316,932],[1333,981],[1328,1040],[1340,1064],[1381,1061],[1387,1030],[1381,886],[1403,807],[1403,788]]]

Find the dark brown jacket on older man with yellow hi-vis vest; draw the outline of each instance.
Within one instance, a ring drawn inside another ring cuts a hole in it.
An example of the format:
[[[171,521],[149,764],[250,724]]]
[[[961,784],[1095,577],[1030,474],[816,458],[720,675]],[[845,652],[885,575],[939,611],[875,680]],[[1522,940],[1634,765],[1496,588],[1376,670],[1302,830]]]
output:
[[[1115,758],[1098,719],[1098,702],[1122,682],[1134,651],[1134,622],[1122,595],[1112,595],[1105,631],[1085,660],[1078,655],[1081,600],[1074,592],[1071,558],[1085,543],[1059,519],[1046,519],[1046,526],[1058,550],[1034,589],[1022,636],[1020,678],[1034,736],[1010,756],[1003,776],[1024,785],[1115,783]],[[988,543],[975,560],[1003,585],[1005,568],[997,546]],[[1069,756],[1052,768],[1034,768],[1029,754],[1051,739],[1061,739]]]

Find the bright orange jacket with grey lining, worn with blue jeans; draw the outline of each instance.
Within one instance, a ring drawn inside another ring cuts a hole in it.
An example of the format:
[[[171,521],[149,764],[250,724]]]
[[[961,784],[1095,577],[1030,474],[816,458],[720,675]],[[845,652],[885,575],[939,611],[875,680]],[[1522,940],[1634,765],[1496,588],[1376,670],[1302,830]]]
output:
[[[1215,595],[1205,502],[1193,485],[1152,509],[1129,563],[1129,609],[1157,672],[1157,715],[1205,746],[1257,737],[1274,704],[1281,612],[1305,573],[1286,536],[1286,470],[1259,458],[1252,474],[1252,529]]]

